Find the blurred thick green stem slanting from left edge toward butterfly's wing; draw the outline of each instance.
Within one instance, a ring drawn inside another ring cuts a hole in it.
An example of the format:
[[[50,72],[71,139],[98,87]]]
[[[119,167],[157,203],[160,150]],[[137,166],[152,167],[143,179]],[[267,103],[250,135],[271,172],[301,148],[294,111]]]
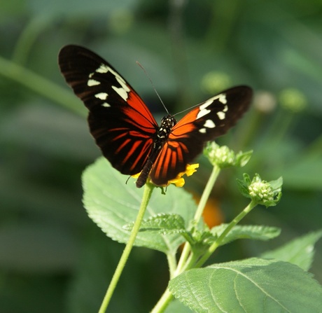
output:
[[[86,109],[70,90],[52,83],[25,67],[0,57],[0,76],[12,79],[39,95],[46,97],[80,116],[86,115]]]

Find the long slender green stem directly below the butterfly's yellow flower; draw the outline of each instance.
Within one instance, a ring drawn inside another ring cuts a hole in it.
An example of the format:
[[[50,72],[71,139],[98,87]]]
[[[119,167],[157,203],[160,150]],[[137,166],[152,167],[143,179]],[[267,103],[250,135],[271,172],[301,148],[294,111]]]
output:
[[[141,206],[139,208],[137,218],[134,222],[129,241],[127,242],[125,249],[123,251],[123,254],[120,257],[120,260],[118,261],[118,266],[116,267],[116,271],[113,274],[112,280],[109,284],[109,288],[107,288],[102,305],[99,308],[99,313],[106,312],[106,309],[109,305],[109,302],[111,300],[113,292],[116,288],[116,285],[118,284],[118,280],[120,279],[120,275],[122,274],[125,264],[127,263],[127,259],[130,256],[130,252],[131,252],[132,247],[134,245],[134,241],[137,238],[137,234],[139,232],[139,228],[140,228],[141,222],[143,220],[144,213],[146,212],[146,207],[148,207],[148,202],[150,201],[153,188],[154,188],[154,186],[150,183],[146,183],[146,185],[144,186],[144,194],[142,197]]]

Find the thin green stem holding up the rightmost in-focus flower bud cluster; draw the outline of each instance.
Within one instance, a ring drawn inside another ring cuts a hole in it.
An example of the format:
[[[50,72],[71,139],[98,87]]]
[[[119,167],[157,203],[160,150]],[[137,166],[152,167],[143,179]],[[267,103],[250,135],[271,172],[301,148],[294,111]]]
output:
[[[257,205],[257,202],[255,202],[254,200],[251,200],[251,202],[248,204],[248,206],[243,211],[241,211],[228,224],[228,226],[221,233],[221,235],[218,237],[216,242],[214,242],[214,244],[211,244],[211,246],[209,247],[207,253],[204,253],[204,256],[202,256],[202,258],[200,258],[200,260],[197,262],[195,267],[202,267],[202,265],[204,265],[204,263],[208,260],[208,258],[211,256],[211,254],[214,253],[214,251],[218,248],[218,246],[221,245],[221,242],[223,242],[223,239],[227,236],[228,232],[230,232],[230,230],[232,230],[232,228],[235,225],[237,225],[241,221],[241,219],[243,219],[256,205]]]

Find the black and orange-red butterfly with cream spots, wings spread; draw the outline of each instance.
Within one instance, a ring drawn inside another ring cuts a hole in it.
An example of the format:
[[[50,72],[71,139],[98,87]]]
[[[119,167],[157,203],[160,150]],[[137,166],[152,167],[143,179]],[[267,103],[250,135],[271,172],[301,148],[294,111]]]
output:
[[[66,83],[89,110],[88,124],[105,158],[122,174],[141,172],[156,186],[185,172],[188,163],[248,109],[252,90],[238,86],[191,109],[179,122],[172,115],[160,126],[125,78],[102,57],[80,46],[64,46],[58,62]]]

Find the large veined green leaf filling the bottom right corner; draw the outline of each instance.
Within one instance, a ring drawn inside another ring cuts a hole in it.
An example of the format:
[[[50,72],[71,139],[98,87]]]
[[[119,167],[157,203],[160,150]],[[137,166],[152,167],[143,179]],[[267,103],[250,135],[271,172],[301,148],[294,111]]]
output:
[[[296,265],[250,258],[183,272],[170,291],[194,312],[321,312],[322,288]]]

